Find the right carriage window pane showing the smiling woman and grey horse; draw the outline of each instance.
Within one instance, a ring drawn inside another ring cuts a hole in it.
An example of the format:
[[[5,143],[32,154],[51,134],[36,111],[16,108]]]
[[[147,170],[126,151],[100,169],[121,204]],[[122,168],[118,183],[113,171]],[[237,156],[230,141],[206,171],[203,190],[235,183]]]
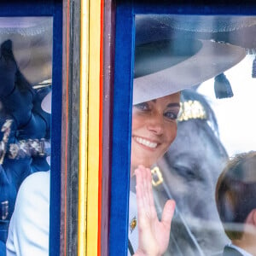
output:
[[[220,255],[238,236],[249,237],[256,207],[237,192],[256,191],[248,153],[256,150],[256,18],[136,15],[135,24],[128,255],[145,247]],[[224,167],[235,174],[221,175]],[[223,192],[224,182],[236,186]],[[169,199],[176,202],[170,236],[151,205],[162,218]]]

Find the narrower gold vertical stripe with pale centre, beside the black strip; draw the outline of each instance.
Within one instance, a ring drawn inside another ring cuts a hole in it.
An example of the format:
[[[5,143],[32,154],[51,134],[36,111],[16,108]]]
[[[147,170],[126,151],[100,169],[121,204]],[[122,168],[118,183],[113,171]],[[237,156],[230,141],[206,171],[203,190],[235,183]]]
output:
[[[79,115],[79,227],[78,255],[86,255],[87,147],[89,76],[89,0],[81,1],[80,115]],[[89,255],[89,254],[88,254]]]

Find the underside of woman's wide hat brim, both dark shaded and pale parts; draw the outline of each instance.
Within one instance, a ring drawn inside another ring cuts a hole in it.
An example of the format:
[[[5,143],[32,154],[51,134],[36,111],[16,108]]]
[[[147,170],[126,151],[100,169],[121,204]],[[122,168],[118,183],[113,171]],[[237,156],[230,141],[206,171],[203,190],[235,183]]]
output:
[[[201,84],[235,66],[246,50],[211,40],[154,41],[137,45],[133,104]]]

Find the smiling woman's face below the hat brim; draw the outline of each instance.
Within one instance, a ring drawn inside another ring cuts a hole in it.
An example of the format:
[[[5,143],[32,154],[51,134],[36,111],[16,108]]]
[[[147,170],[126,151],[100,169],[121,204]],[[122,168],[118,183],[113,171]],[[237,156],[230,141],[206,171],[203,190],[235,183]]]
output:
[[[131,170],[152,166],[166,153],[177,133],[180,93],[164,96],[132,108]]]

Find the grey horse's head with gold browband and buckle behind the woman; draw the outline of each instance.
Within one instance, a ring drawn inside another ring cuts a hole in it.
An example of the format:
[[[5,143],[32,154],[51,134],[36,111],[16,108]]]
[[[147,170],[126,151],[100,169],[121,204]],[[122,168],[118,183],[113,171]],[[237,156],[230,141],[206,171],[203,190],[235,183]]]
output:
[[[220,255],[228,242],[214,201],[215,184],[228,158],[206,99],[183,90],[177,137],[153,173],[160,213],[167,198],[176,203],[166,255]]]

